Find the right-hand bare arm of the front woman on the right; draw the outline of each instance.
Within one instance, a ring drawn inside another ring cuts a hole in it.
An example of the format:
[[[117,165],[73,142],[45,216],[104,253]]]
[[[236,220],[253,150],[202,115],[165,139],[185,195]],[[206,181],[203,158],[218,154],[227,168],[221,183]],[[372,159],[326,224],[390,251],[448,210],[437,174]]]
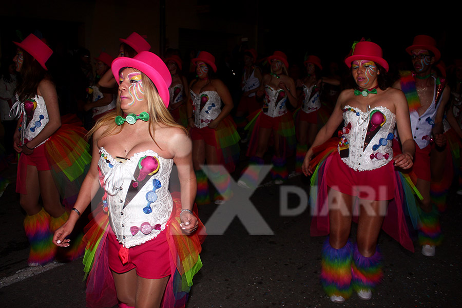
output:
[[[392,98],[396,108],[396,127],[398,129],[399,140],[401,141],[402,154],[395,156],[393,160],[395,161],[396,167],[409,169],[413,164],[415,142],[412,139],[408,101],[402,91],[394,90],[394,92]]]

